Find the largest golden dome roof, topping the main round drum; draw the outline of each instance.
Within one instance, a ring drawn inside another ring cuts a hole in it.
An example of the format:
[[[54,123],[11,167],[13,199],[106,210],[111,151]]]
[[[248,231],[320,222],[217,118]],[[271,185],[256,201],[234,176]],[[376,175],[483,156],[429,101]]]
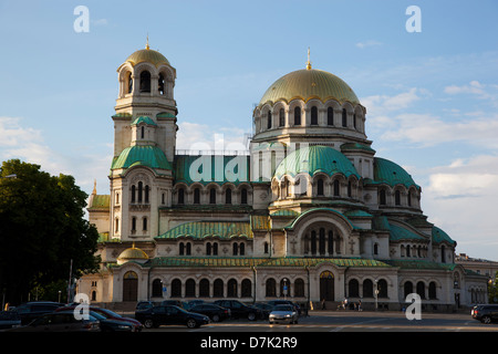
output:
[[[323,103],[335,100],[339,103],[360,104],[360,100],[351,87],[340,77],[326,71],[311,69],[308,62],[305,70],[291,72],[277,80],[264,93],[259,106],[278,101],[291,102],[294,98],[308,102],[318,98]]]

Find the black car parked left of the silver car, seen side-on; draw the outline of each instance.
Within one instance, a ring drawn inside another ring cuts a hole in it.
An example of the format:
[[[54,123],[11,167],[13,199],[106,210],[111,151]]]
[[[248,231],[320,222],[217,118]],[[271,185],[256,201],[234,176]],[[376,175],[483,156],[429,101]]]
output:
[[[189,329],[209,323],[209,317],[174,305],[159,305],[152,309],[135,311],[135,319],[146,329],[158,327],[162,324],[184,324]]]

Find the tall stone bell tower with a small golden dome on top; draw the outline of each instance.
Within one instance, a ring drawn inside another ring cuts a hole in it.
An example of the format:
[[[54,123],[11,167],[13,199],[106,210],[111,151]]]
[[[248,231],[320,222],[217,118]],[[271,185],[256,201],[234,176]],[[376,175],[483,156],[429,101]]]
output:
[[[170,206],[177,107],[176,70],[147,43],[117,69],[110,235],[153,240],[159,208]]]

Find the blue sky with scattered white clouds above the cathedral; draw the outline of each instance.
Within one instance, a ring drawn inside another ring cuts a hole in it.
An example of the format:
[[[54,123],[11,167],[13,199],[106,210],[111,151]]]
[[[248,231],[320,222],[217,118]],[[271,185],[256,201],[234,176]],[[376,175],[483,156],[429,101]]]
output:
[[[147,35],[177,71],[186,149],[215,134],[242,143],[255,105],[310,48],[313,69],[366,107],[376,156],[422,187],[427,220],[457,253],[498,260],[497,14],[495,0],[0,0],[0,160],[108,194],[116,70]]]

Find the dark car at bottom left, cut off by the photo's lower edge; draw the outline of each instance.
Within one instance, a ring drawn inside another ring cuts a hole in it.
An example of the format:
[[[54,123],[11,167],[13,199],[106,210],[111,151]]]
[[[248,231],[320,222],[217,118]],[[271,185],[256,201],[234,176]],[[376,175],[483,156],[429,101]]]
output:
[[[30,324],[7,332],[98,332],[97,319],[89,314],[87,320],[76,320],[73,311],[52,312],[32,321]]]

